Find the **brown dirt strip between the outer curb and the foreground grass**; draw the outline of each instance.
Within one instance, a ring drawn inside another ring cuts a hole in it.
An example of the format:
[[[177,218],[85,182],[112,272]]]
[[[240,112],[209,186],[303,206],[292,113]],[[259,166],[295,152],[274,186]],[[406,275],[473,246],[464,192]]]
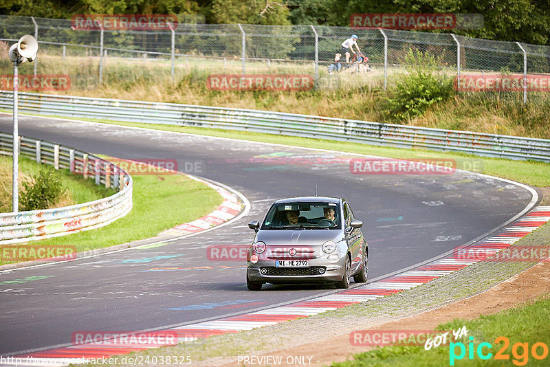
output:
[[[380,324],[371,329],[433,330],[438,324],[456,318],[472,320],[479,315],[490,315],[529,302],[540,296],[546,297],[549,295],[550,261],[547,260],[477,296],[466,298],[465,300],[454,302],[411,318]],[[351,333],[351,331],[353,330],[349,330],[347,333],[340,334],[336,337],[327,338],[322,342],[303,344],[263,356],[269,356],[270,358],[280,356],[282,363],[277,364],[278,366],[296,366],[296,364],[286,364],[287,358],[289,357],[289,362],[295,361],[294,356],[305,357],[306,362],[309,362],[307,357],[312,357],[309,366],[327,366],[332,362],[342,362],[349,359],[351,355],[355,353],[368,351],[370,349],[365,346],[352,346],[349,340],[349,333]],[[262,355],[259,354],[256,356],[257,358],[262,357]],[[234,360],[237,360],[237,358],[234,357]],[[267,359],[263,360],[267,361]],[[259,359],[254,359],[256,365],[263,365],[258,361]],[[243,364],[243,362],[245,361],[241,359],[240,364],[231,363],[225,364],[224,366],[248,365]]]

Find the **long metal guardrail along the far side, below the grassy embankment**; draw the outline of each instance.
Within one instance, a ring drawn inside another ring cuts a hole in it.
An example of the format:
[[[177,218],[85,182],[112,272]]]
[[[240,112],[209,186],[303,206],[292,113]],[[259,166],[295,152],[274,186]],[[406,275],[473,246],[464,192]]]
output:
[[[1,91],[0,108],[11,107],[12,92]],[[27,113],[72,118],[255,131],[378,146],[426,148],[486,157],[550,162],[550,140],[294,113],[37,93],[20,93],[19,109]]]

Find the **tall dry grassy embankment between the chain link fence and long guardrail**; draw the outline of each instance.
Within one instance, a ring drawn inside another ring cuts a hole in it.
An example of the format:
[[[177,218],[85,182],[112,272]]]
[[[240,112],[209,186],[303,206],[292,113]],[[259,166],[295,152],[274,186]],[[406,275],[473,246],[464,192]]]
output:
[[[225,65],[225,66],[224,66]],[[311,74],[313,67],[288,63],[250,62],[248,73]],[[11,65],[0,61],[2,74],[10,74]],[[351,69],[327,75],[320,67],[320,88],[313,91],[210,91],[206,78],[210,74],[240,74],[236,60],[176,60],[175,78],[170,78],[169,60],[105,58],[103,84],[98,85],[98,58],[41,55],[38,72],[67,74],[71,88],[62,93],[74,96],[120,98],[156,102],[203,104],[219,107],[267,109],[323,115],[336,118],[410,124],[483,133],[550,138],[547,111],[548,93],[529,92],[529,103],[522,104],[522,92],[453,93],[452,98],[437,102],[421,116],[396,118],[390,113],[387,98],[400,80],[403,68],[388,72],[388,92],[383,89],[383,69],[373,67],[367,74],[351,75]],[[449,76],[454,71],[448,69]],[[463,71],[463,74],[467,74]],[[32,74],[32,65],[23,64],[20,74]]]

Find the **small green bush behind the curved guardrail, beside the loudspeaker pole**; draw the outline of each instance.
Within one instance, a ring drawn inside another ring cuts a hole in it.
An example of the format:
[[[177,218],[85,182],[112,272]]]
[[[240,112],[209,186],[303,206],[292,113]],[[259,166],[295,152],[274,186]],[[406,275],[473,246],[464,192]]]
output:
[[[38,175],[32,175],[31,180],[22,185],[24,190],[19,194],[19,204],[23,211],[51,208],[67,193],[53,168],[40,170]]]

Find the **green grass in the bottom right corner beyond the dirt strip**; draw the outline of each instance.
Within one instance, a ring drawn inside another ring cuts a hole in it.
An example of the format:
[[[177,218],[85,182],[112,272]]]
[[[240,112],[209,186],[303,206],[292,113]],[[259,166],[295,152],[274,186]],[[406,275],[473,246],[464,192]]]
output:
[[[468,347],[469,340],[464,337],[462,342],[465,346],[465,357],[454,360],[454,366],[548,366],[550,356],[537,360],[531,355],[533,344],[541,342],[550,347],[550,328],[548,320],[550,318],[550,300],[539,299],[522,307],[507,309],[494,315],[481,316],[471,321],[453,320],[445,324],[440,324],[438,330],[457,330],[466,326],[468,337],[473,336],[474,340],[472,350],[474,355],[469,359]],[[497,337],[507,337],[509,346],[503,351],[503,355],[509,355],[508,360],[495,359],[496,353],[503,348],[504,342],[496,343]],[[492,353],[492,357],[482,360],[476,354],[477,346],[481,342],[492,344],[490,350],[483,348],[483,353],[487,351]],[[524,354],[520,346],[516,343],[528,343],[529,353]],[[362,367],[362,366],[449,366],[450,351],[454,350],[456,355],[460,355],[460,347],[439,346],[430,351],[424,350],[423,346],[386,346],[384,348],[375,348],[371,351],[358,353],[353,356],[353,360],[346,362],[333,363],[332,367]],[[514,351],[516,354],[514,355]],[[538,355],[542,355],[542,347],[538,348]],[[514,361],[516,363],[514,363]]]

